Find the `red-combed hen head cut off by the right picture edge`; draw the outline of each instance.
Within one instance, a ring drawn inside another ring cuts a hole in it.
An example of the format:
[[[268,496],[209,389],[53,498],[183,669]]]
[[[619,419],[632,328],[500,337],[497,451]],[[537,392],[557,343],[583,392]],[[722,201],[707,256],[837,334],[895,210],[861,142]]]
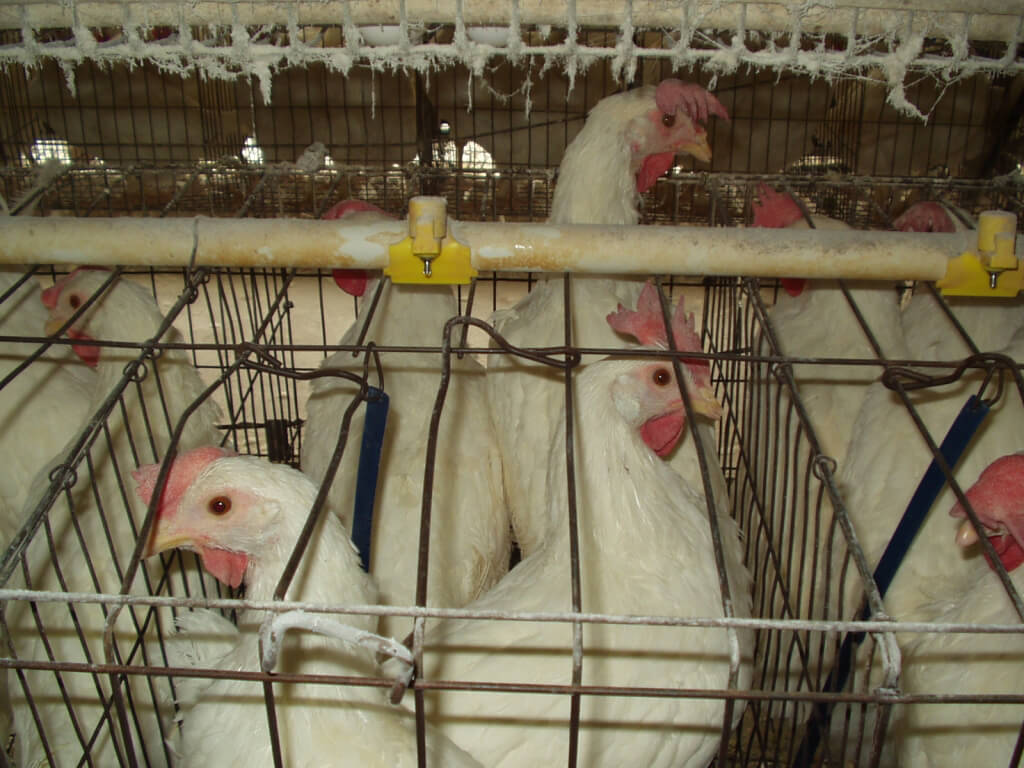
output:
[[[1004,567],[1011,571],[1024,563],[1024,454],[1004,456],[989,464],[966,496]],[[949,514],[967,517],[959,502]],[[970,547],[977,541],[971,521],[964,520],[956,543]]]

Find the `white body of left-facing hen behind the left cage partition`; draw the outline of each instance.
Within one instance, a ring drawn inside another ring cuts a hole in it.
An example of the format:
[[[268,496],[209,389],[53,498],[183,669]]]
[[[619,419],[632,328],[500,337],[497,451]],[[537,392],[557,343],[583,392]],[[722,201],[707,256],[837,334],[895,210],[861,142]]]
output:
[[[109,273],[99,271],[77,272],[67,280],[60,294],[61,301],[67,302],[68,297],[74,293],[78,297],[77,302],[81,302],[83,297],[91,296],[109,276]],[[74,307],[77,306],[78,303],[75,303]],[[56,311],[62,311],[62,308],[58,307]],[[88,310],[87,316],[76,323],[76,327],[86,330],[95,339],[138,342],[153,337],[162,321],[153,297],[141,287],[122,280],[115,283],[97,304]],[[137,354],[137,349],[130,347],[106,348],[100,352],[88,414],[99,409],[124,376],[125,365]],[[138,385],[131,383],[125,389],[124,409],[116,406],[108,417],[105,430],[89,450],[87,462],[79,467],[77,484],[68,497],[58,496],[49,510],[48,524],[54,540],[53,546],[59,553],[59,572],[50,557],[46,536],[37,534],[29,547],[33,589],[106,594],[117,594],[120,591],[123,568],[135,546],[135,530],[143,512],[131,496],[123,493],[124,478],[137,462],[155,461],[163,455],[169,443],[171,429],[203,388],[198,373],[188,364],[183,352],[165,350],[156,360],[146,365],[147,371]],[[204,404],[189,419],[182,433],[179,450],[218,439],[214,428],[216,418],[217,409],[214,403]],[[77,429],[71,430],[73,439],[77,433]],[[67,436],[68,432],[65,434]],[[53,463],[36,476],[26,513],[34,508],[43,489],[48,486],[52,466],[65,461],[70,449],[71,443],[61,449]],[[212,580],[203,578],[194,558],[186,558],[169,567],[180,571],[180,574],[176,573],[172,579],[176,586],[180,586],[182,580],[187,583],[186,589],[190,594],[203,594],[204,590],[212,589]],[[136,577],[133,592],[148,594],[142,574]],[[39,637],[26,603],[12,603],[7,610],[11,639],[22,658],[46,658],[48,651],[51,651],[53,657],[60,662],[104,659],[104,616],[98,606],[82,606],[77,610],[77,621],[84,638],[80,640],[73,631],[67,605],[38,604],[36,610],[47,629],[49,649]],[[162,609],[158,613],[170,626],[170,612]],[[118,647],[123,651],[131,648],[136,635],[137,630],[126,611],[122,614],[116,632]],[[152,633],[147,637],[150,640],[155,639]],[[88,651],[84,650],[83,643]],[[159,650],[147,644],[142,652],[159,653]],[[139,663],[137,656],[134,663]],[[23,674],[28,678],[35,706],[39,709],[46,728],[54,766],[78,764],[83,750],[79,736],[71,725],[68,708],[60,696],[44,695],[54,685],[53,673],[25,670]],[[96,687],[99,685],[104,690],[104,695],[109,695],[106,679],[100,676],[94,680],[91,675],[71,674],[63,676],[63,685],[78,725],[88,741],[104,717],[104,707],[98,698]],[[148,689],[145,678],[132,677],[130,685],[135,710],[139,713],[139,722],[144,731],[142,736],[135,732],[135,749],[145,750],[151,759],[157,759],[164,749],[160,721],[167,720],[173,714],[170,701],[160,694],[155,696]],[[11,686],[11,698],[14,728],[18,737],[15,746],[18,764],[37,765],[43,759],[43,748],[20,685]],[[116,761],[115,746],[110,740],[109,729],[105,726],[99,727],[102,732],[91,746],[92,759],[95,764],[113,764]]]

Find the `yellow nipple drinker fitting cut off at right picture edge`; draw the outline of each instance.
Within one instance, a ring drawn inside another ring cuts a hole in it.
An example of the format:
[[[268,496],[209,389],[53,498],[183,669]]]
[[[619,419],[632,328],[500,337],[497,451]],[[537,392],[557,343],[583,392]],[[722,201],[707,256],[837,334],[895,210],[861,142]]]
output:
[[[1016,234],[1015,214],[982,213],[976,251],[950,259],[945,276],[935,284],[942,295],[1013,298],[1024,290],[1024,262],[1017,258]]]

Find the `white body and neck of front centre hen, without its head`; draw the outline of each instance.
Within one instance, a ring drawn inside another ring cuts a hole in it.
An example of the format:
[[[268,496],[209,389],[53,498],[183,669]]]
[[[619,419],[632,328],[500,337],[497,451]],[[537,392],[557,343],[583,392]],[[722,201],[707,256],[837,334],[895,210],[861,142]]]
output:
[[[721,616],[722,601],[702,499],[627,424],[631,386],[649,362],[602,360],[579,374],[575,445],[584,611]],[[558,430],[561,443],[563,430]],[[568,611],[569,543],[565,463],[549,482],[557,521],[543,546],[472,607]],[[719,516],[737,615],[750,610],[750,577],[737,529]],[[554,587],[557,586],[557,589]],[[427,629],[428,680],[568,685],[571,627],[560,623],[450,620]],[[583,684],[724,688],[729,654],[722,630],[615,625],[583,628]],[[739,633],[737,685],[751,679],[753,638]],[[560,762],[567,754],[567,696],[444,691],[428,694],[428,717],[483,765]],[[717,748],[720,700],[582,699],[581,765],[702,766]],[[738,717],[740,713],[735,713]]]

